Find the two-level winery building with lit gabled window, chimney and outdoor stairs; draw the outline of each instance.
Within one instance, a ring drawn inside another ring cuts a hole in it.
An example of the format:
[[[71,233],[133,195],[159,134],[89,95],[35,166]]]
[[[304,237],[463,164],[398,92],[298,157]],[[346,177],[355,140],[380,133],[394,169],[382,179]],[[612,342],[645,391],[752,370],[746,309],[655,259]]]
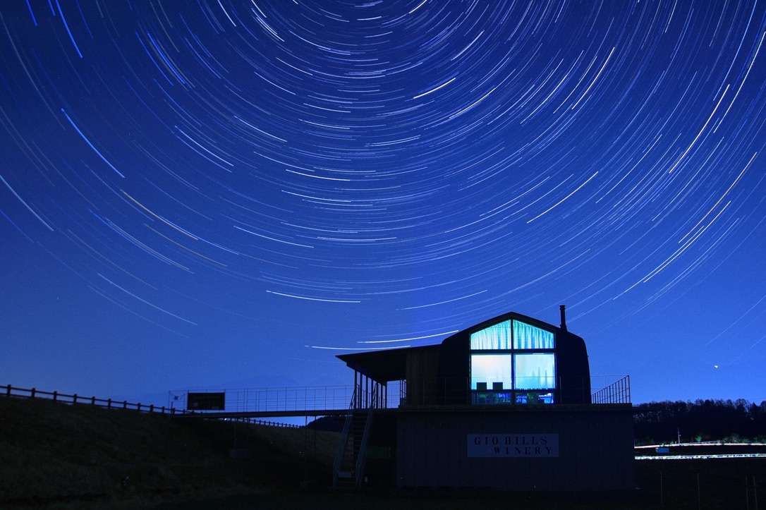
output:
[[[338,358],[356,391],[336,488],[634,488],[630,385],[591,394],[564,306],[558,327],[509,312],[439,345]]]

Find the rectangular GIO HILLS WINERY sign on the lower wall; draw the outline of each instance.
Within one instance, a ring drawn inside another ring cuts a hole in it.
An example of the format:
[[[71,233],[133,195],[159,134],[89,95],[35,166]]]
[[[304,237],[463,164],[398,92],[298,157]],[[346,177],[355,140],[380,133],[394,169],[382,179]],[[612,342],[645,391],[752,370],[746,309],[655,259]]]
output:
[[[558,434],[468,434],[469,457],[558,457]]]

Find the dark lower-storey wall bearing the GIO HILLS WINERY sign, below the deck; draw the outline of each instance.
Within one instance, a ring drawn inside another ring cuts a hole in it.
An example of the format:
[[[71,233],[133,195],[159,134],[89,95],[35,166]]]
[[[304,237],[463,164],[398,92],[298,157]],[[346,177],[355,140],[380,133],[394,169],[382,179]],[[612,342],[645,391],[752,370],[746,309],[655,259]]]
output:
[[[398,487],[635,489],[629,404],[402,410],[397,421]]]

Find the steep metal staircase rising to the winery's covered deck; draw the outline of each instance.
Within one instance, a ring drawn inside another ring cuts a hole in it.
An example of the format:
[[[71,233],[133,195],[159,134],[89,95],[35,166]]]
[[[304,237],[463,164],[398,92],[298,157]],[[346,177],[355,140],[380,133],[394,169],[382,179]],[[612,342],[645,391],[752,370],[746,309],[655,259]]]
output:
[[[343,432],[338,445],[335,463],[332,466],[332,490],[356,490],[362,486],[365,463],[367,462],[367,446],[370,440],[372,414],[377,401],[377,386],[373,387],[368,407],[361,407],[357,400],[361,387],[355,387],[349,406],[349,414],[345,416]]]

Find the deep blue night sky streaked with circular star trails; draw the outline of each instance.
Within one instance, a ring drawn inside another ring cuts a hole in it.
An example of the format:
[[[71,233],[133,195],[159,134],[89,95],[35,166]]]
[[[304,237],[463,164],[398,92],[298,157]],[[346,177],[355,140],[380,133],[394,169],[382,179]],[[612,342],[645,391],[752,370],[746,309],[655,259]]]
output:
[[[352,384],[565,304],[634,403],[766,400],[764,38],[752,0],[2,2],[0,384]]]

